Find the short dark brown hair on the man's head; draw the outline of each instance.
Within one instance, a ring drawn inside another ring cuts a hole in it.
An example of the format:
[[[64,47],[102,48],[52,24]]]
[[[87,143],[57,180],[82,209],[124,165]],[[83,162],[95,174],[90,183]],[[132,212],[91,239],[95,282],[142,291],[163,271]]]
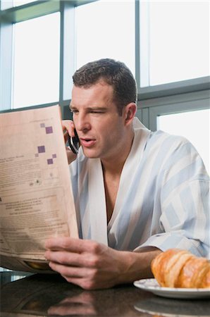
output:
[[[113,101],[121,116],[123,107],[137,100],[137,85],[130,69],[120,61],[111,58],[102,58],[92,61],[73,75],[73,83],[77,87],[91,87],[104,80],[113,87]]]

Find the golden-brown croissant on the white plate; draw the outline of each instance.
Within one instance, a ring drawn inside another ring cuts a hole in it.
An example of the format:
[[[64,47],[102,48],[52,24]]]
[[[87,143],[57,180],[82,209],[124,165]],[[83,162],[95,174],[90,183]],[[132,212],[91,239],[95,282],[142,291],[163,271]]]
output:
[[[168,249],[152,260],[151,269],[162,287],[210,287],[210,262],[189,251]]]

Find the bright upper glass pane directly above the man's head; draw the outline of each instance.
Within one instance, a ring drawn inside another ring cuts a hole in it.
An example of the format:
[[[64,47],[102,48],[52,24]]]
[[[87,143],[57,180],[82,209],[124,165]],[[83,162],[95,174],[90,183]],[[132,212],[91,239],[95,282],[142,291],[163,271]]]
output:
[[[135,1],[97,1],[76,8],[76,66],[123,61],[135,75]]]

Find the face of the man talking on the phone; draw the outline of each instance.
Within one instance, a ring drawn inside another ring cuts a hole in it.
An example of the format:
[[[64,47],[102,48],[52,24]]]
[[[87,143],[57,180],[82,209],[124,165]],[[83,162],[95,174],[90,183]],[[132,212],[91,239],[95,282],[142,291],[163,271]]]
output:
[[[85,156],[114,159],[125,127],[113,103],[113,87],[103,81],[89,88],[74,86],[70,109]]]

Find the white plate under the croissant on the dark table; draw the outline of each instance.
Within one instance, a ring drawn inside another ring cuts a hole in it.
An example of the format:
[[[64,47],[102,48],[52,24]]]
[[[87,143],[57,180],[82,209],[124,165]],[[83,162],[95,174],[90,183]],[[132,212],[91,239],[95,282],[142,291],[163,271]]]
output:
[[[170,298],[207,298],[210,297],[210,289],[206,288],[171,288],[161,287],[155,278],[135,280],[133,283],[142,290],[152,292],[161,297]]]

